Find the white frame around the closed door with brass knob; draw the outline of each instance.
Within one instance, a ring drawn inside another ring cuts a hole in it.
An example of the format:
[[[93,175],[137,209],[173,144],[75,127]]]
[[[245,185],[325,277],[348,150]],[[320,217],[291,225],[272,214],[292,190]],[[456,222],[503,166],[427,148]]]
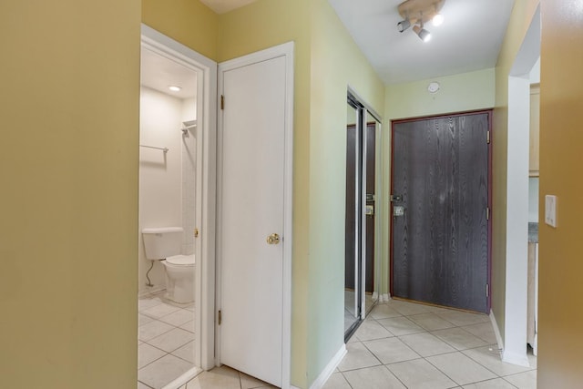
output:
[[[285,57],[285,123],[284,123],[284,178],[283,178],[283,274],[282,274],[282,302],[281,302],[281,388],[291,388],[292,374],[292,205],[293,205],[293,53],[294,44],[288,42],[279,46],[273,46],[265,50],[240,56],[219,64],[218,85],[219,91],[223,90],[224,73],[226,71],[267,61],[277,57]],[[217,104],[220,107],[220,94],[217,96]],[[224,128],[222,115],[218,115],[217,126],[217,199],[221,198],[221,160],[222,132]],[[221,252],[220,252],[220,201],[217,201],[217,230],[216,230],[216,285],[214,293],[216,301],[213,303],[213,318],[217,317],[220,310],[221,299]],[[215,361],[220,364],[220,327],[219,321],[214,322]]]

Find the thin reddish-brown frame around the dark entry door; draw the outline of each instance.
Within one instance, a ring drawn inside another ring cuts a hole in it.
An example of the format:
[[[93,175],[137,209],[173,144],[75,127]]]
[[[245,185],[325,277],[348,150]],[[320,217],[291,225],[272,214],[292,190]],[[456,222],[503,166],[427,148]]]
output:
[[[464,112],[455,112],[449,114],[440,114],[440,115],[427,115],[422,117],[414,117],[414,118],[403,118],[403,119],[393,119],[391,120],[391,189],[389,192],[389,196],[394,193],[394,182],[393,182],[393,172],[394,172],[394,125],[395,124],[402,124],[408,123],[412,121],[424,120],[424,119],[435,119],[435,118],[455,118],[455,117],[463,117],[469,115],[483,115],[487,114],[488,116],[488,134],[489,134],[489,141],[488,141],[488,209],[490,210],[489,219],[488,219],[488,285],[489,291],[487,295],[487,310],[488,312],[492,309],[492,219],[493,219],[493,211],[492,211],[492,148],[493,148],[493,131],[492,131],[492,117],[493,117],[493,109],[477,109],[471,111],[464,111]],[[389,291],[391,292],[391,296],[394,296],[393,292],[393,204],[389,202],[389,271],[391,272],[389,277]]]

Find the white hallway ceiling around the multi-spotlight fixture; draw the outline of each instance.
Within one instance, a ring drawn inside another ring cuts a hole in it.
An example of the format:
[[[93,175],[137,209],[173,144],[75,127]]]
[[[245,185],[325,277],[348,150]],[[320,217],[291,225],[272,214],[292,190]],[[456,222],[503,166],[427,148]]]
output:
[[[385,84],[450,76],[496,66],[514,0],[445,0],[442,26],[424,43],[399,33],[403,0],[328,0]]]

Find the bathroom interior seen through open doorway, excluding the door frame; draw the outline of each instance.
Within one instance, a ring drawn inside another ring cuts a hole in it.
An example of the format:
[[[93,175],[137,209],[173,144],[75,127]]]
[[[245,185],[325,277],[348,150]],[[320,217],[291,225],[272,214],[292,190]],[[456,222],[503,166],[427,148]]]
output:
[[[197,77],[189,64],[142,46],[138,388],[171,386],[180,376],[197,372],[193,346],[200,157]],[[173,228],[176,244],[170,255],[152,254],[148,246],[162,228]],[[170,264],[172,259],[180,263]]]

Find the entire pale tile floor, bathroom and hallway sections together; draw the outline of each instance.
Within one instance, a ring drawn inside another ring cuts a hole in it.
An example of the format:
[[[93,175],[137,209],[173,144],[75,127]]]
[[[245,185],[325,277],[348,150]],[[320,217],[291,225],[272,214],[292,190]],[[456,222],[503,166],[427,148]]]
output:
[[[140,300],[144,306],[140,313],[147,318],[140,316],[138,389],[161,388],[192,367],[193,322],[183,322],[188,313],[182,312],[192,308],[154,309],[164,302],[156,295],[150,299],[157,303]],[[159,316],[160,312],[167,314]],[[346,348],[348,353],[323,389],[537,387],[537,357],[528,355],[530,367],[503,363],[485,314],[414,302],[383,302],[373,308]],[[275,386],[220,366],[200,373],[179,389],[230,388]]]

